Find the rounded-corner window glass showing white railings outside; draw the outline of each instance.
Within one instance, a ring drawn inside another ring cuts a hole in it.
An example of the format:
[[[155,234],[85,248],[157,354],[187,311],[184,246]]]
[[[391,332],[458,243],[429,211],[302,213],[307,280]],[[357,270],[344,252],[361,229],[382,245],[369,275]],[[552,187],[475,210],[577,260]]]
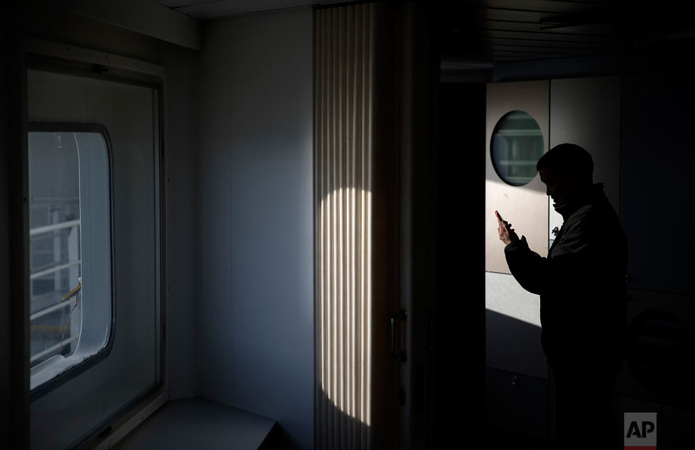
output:
[[[115,319],[110,154],[103,125],[29,125],[32,392],[108,353]]]

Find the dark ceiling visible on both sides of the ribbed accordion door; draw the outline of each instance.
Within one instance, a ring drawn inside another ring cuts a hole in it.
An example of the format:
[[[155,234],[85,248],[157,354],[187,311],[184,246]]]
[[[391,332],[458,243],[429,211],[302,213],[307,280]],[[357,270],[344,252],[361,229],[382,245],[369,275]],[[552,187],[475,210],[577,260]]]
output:
[[[340,0],[154,0],[200,20],[341,3]],[[671,0],[639,9],[626,0],[430,0],[443,60],[459,63],[562,58],[689,48],[695,25]],[[687,2],[686,2],[687,3]],[[626,7],[627,6],[627,7]]]

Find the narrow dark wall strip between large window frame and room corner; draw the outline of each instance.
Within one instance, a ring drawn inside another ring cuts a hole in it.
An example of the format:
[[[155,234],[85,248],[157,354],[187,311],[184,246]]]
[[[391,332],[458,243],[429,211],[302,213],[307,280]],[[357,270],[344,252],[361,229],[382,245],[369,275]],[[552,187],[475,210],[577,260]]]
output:
[[[164,174],[167,376],[172,399],[198,394],[197,52],[161,46],[167,68]]]

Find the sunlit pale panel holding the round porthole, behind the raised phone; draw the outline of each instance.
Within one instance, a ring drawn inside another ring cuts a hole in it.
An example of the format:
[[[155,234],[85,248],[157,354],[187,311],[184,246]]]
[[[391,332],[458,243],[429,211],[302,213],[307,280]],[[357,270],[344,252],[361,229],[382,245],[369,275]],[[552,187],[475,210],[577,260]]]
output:
[[[502,181],[492,165],[490,142],[499,119],[510,111],[522,110],[536,120],[543,136],[543,151],[548,151],[549,100],[549,81],[487,86],[484,149],[486,366],[538,378],[548,378],[540,343],[539,297],[523,290],[509,274],[494,211],[499,210],[518,235],[525,235],[531,249],[545,256],[548,197],[538,174],[523,186]]]

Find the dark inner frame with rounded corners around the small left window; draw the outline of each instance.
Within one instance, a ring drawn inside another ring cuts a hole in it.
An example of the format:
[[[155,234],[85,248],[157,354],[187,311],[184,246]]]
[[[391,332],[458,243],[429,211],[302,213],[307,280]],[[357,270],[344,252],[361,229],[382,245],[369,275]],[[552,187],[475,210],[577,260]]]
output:
[[[41,385],[38,385],[37,387],[34,387],[33,389],[30,388],[29,396],[30,396],[30,401],[34,401],[36,399],[39,399],[40,397],[43,397],[45,394],[48,392],[51,392],[52,390],[56,389],[60,385],[63,385],[67,383],[68,381],[72,380],[72,378],[75,378],[79,374],[82,374],[86,370],[90,369],[91,367],[94,367],[99,363],[101,360],[106,359],[108,357],[109,353],[111,353],[111,349],[113,347],[113,342],[115,338],[115,331],[116,331],[116,295],[115,295],[115,260],[114,260],[114,253],[115,253],[115,242],[114,242],[114,226],[113,226],[113,217],[114,217],[114,208],[113,208],[113,146],[111,144],[111,135],[108,133],[108,128],[104,126],[104,124],[99,124],[99,123],[87,123],[87,122],[28,122],[27,127],[26,127],[26,136],[28,138],[28,133],[31,132],[39,132],[39,133],[51,133],[51,132],[62,132],[62,133],[99,133],[102,136],[104,136],[104,140],[106,141],[106,160],[108,161],[108,210],[109,210],[109,241],[110,241],[110,253],[109,253],[109,261],[111,262],[111,326],[109,329],[108,333],[108,342],[106,342],[106,345],[97,351],[97,353],[94,353],[92,356],[88,356],[84,360],[82,360],[80,363],[77,363],[76,365],[73,365],[72,367],[69,367],[68,369],[65,369],[64,372],[61,372],[60,374],[54,376],[54,378],[51,378],[48,381],[45,381]],[[28,148],[26,149],[28,152]],[[27,176],[28,176],[28,167],[27,167]],[[28,202],[27,202],[28,203]],[[28,233],[28,230],[26,230],[26,233]],[[27,324],[29,326],[29,324]],[[31,379],[31,375],[29,376]]]

